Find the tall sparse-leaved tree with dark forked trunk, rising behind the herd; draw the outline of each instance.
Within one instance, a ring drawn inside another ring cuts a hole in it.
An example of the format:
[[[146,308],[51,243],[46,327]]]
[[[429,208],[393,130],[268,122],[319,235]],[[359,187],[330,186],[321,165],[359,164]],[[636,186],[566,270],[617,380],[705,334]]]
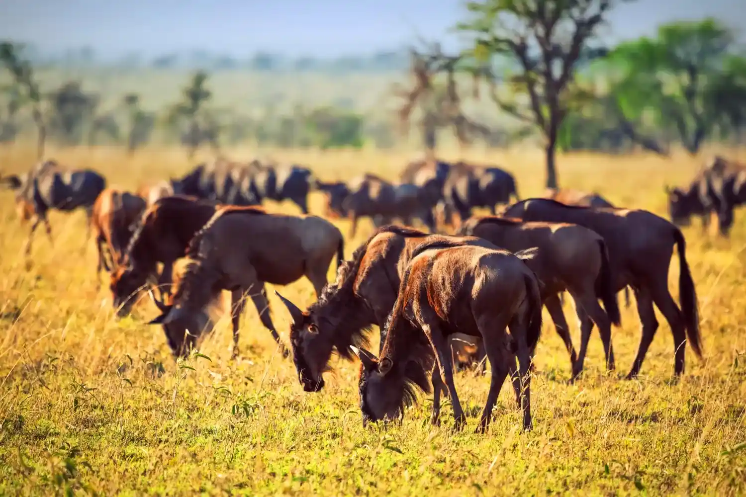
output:
[[[557,188],[555,151],[568,114],[568,87],[577,66],[604,54],[590,42],[619,1],[630,0],[469,1],[470,19],[457,25],[474,38],[470,52],[485,64],[481,74],[489,78],[492,100],[542,133],[549,188]],[[507,97],[496,89],[496,57],[507,62],[500,78],[510,90]]]

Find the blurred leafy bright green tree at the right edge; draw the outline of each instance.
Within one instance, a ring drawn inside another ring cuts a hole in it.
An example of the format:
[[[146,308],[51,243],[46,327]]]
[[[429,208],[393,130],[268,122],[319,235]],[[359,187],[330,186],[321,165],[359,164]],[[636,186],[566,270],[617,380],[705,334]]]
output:
[[[695,155],[718,127],[741,127],[745,64],[734,42],[732,31],[704,19],[662,25],[654,38],[614,48],[604,66],[627,136],[639,142],[636,130],[648,121]]]

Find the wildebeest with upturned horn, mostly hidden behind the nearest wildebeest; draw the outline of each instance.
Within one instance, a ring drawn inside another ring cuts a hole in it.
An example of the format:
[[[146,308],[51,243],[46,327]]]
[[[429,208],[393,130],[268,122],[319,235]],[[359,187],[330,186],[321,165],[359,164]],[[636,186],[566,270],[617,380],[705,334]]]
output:
[[[278,293],[292,323],[290,344],[298,380],[307,392],[324,387],[334,349],[351,359],[350,345],[366,344],[365,333],[377,325],[383,333],[386,317],[396,301],[401,273],[417,245],[424,240],[456,240],[463,244],[495,247],[482,238],[427,235],[419,229],[400,226],[380,227],[361,244],[337,271],[336,281],[324,288],[307,311]],[[383,344],[383,335],[380,339]]]

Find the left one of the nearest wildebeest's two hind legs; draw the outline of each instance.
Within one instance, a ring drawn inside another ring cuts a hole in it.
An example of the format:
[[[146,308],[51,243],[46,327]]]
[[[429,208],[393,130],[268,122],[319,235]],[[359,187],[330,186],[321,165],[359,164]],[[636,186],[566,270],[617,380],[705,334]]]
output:
[[[478,320],[477,327],[482,335],[482,341],[484,349],[489,358],[489,369],[491,372],[491,378],[489,381],[489,393],[487,393],[487,402],[484,405],[482,411],[482,417],[480,418],[479,426],[477,427],[477,433],[484,433],[487,431],[489,426],[489,420],[492,417],[492,408],[495,407],[495,402],[498,400],[500,389],[503,387],[508,373],[510,373],[511,361],[515,364],[515,355],[510,352],[507,348],[508,337],[505,333],[507,323],[495,322],[493,320]],[[511,329],[511,335],[514,330]],[[518,329],[515,329],[515,333],[518,333]],[[518,333],[520,334],[520,333]],[[525,339],[524,339],[525,341]],[[514,384],[515,386],[515,384]]]

